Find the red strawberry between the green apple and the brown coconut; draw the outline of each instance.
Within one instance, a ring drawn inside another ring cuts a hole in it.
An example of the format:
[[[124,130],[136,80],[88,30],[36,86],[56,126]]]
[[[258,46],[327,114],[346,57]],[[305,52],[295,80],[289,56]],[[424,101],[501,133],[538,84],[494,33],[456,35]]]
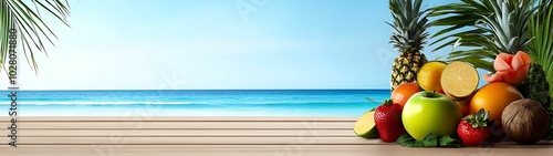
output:
[[[457,126],[457,134],[463,146],[478,146],[490,138],[490,112],[481,108],[477,113],[462,118]]]

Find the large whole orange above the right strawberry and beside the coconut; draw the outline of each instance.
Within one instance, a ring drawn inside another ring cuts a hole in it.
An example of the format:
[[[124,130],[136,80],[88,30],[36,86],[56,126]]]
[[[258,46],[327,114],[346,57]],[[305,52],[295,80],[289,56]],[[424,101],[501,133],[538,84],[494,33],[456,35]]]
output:
[[[523,96],[513,85],[505,82],[492,82],[480,89],[470,100],[470,113],[480,108],[490,111],[490,121],[501,122],[503,110]]]

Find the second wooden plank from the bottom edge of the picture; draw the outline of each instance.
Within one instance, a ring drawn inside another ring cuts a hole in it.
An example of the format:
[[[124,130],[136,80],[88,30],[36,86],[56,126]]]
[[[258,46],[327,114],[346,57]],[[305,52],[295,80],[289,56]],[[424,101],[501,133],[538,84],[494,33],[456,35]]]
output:
[[[0,137],[0,143],[9,143]],[[379,139],[361,137],[18,137],[18,145],[371,145]],[[3,144],[8,146],[8,144]]]

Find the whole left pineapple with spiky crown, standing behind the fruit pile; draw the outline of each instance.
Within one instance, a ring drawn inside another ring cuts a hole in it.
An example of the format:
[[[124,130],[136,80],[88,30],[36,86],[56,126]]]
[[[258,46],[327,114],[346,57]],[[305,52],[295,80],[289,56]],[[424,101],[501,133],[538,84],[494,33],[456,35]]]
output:
[[[394,23],[386,23],[394,28],[390,43],[399,50],[392,67],[392,91],[401,83],[416,83],[419,67],[428,62],[421,50],[429,35],[429,10],[420,10],[421,3],[422,0],[389,0]]]

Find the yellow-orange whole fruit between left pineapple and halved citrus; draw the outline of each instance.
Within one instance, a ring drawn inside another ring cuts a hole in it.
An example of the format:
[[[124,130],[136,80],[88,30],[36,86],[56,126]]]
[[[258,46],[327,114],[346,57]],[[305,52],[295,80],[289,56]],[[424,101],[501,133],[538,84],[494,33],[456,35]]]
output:
[[[417,73],[417,83],[425,91],[441,91],[441,72],[446,67],[446,63],[431,61],[425,63]]]

